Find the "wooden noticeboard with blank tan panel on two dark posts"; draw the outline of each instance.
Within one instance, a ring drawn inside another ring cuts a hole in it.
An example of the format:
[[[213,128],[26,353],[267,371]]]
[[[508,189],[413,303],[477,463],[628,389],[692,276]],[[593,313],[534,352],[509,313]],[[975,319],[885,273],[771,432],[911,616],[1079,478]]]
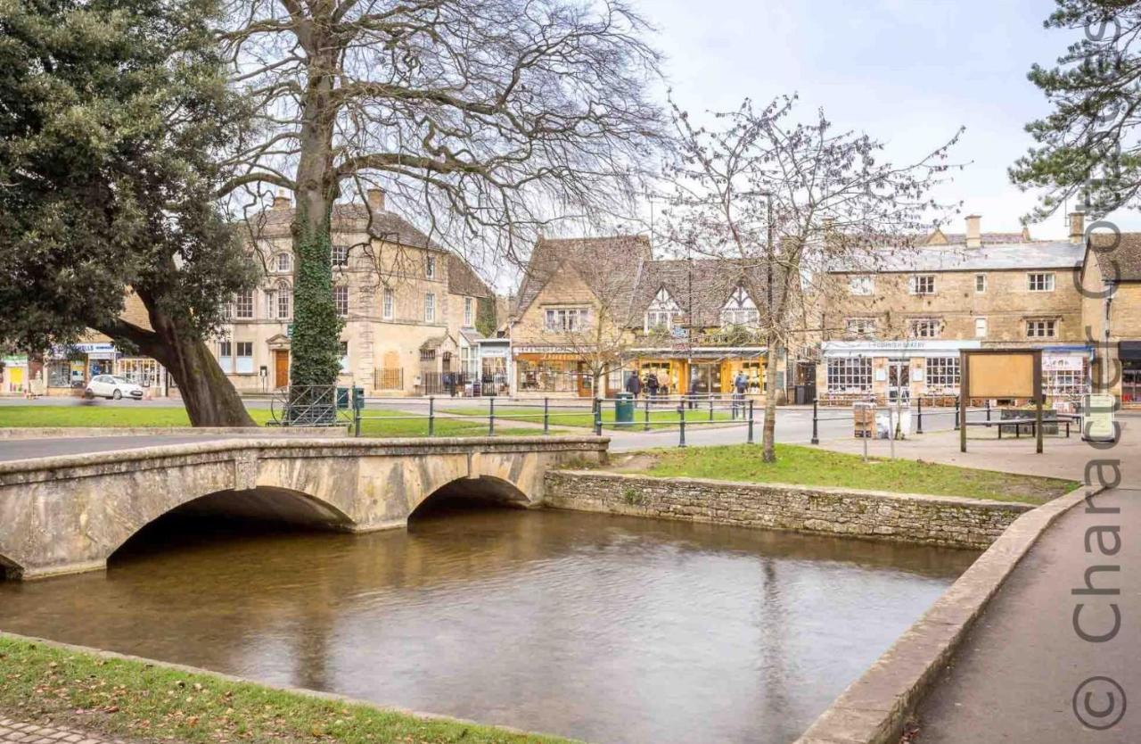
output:
[[[966,452],[966,413],[971,398],[1034,401],[1036,451],[1042,454],[1042,350],[971,349],[960,359],[958,451]],[[1000,422],[998,426],[1002,426]],[[1018,423],[1014,424],[1019,426]]]

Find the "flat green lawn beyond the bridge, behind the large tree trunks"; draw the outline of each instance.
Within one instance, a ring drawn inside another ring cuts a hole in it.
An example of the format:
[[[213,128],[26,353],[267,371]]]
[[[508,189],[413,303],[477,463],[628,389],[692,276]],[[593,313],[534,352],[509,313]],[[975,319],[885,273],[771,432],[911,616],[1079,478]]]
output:
[[[415,415],[402,411],[369,411],[361,422],[361,435],[366,437],[423,437],[428,436],[428,419],[387,419]],[[254,422],[270,420],[269,409],[250,409]],[[348,421],[346,420],[346,424]],[[181,406],[130,405],[3,405],[0,406],[0,427],[189,427],[191,420]],[[438,437],[476,437],[487,434],[486,421],[455,421],[436,419]],[[496,435],[542,435],[542,429],[495,428]]]

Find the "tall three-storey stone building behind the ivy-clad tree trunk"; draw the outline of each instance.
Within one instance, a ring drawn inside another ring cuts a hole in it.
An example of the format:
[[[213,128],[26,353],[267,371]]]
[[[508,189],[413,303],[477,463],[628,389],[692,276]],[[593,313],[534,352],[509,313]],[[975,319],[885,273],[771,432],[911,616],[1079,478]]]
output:
[[[292,219],[290,200],[278,196],[253,220],[265,276],[234,298],[229,324],[213,342],[242,393],[289,385]],[[479,302],[494,298],[460,257],[387,211],[379,189],[369,192],[367,204],[334,205],[332,243],[333,299],[345,320],[339,385],[366,395],[419,395],[443,391],[455,375],[477,377]]]

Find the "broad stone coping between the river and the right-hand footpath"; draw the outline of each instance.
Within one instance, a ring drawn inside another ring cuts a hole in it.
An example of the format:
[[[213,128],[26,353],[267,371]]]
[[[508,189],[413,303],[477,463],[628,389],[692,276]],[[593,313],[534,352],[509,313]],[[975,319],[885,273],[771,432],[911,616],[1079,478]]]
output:
[[[1050,525],[1099,492],[1082,486],[1015,519],[794,744],[898,744],[907,717],[1015,566]]]

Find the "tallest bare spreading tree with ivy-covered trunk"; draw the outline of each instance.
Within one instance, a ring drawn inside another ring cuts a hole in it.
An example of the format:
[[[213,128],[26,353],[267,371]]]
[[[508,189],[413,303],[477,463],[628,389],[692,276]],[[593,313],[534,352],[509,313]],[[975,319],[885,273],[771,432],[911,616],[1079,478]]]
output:
[[[296,194],[297,378],[335,374],[335,334],[302,322],[332,314],[346,189],[383,187],[445,246],[516,260],[552,216],[621,210],[662,134],[646,32],[622,0],[233,0],[221,39],[264,115],[222,192]]]

